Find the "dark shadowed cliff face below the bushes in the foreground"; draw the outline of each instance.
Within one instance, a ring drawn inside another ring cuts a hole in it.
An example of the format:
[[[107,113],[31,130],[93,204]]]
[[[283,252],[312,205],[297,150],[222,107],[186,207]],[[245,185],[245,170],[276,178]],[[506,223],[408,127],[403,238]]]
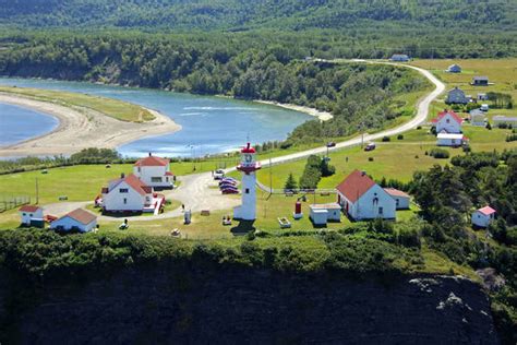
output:
[[[48,283],[15,312],[0,284],[0,312],[23,344],[497,343],[486,296],[461,278],[207,271],[135,267]]]

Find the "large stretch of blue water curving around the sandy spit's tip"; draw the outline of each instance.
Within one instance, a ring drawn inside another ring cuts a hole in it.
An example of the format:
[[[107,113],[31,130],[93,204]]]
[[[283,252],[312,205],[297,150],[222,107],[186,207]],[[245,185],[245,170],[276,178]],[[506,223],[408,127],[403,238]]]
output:
[[[284,140],[310,116],[275,106],[223,97],[195,96],[166,91],[97,85],[81,82],[0,78],[1,85],[80,92],[118,98],[156,109],[182,126],[181,131],[145,138],[118,147],[128,156],[148,152],[166,156],[202,156],[252,143]]]

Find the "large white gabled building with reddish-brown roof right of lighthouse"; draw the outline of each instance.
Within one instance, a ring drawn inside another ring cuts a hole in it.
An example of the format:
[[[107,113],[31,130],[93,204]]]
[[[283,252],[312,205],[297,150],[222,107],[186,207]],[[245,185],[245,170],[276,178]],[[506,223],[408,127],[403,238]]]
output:
[[[396,218],[395,199],[364,171],[354,170],[336,191],[341,210],[354,221]]]

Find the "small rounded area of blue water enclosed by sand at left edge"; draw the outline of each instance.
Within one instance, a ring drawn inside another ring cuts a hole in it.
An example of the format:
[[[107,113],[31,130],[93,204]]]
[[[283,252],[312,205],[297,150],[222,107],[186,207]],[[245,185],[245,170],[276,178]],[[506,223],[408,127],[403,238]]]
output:
[[[0,146],[48,133],[58,124],[51,116],[0,103]]]

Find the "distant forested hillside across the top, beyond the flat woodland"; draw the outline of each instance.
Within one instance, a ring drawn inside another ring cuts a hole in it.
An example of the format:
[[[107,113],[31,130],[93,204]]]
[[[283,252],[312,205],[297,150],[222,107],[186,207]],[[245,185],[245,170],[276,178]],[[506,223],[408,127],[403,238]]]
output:
[[[0,0],[10,27],[517,29],[517,1]]]

